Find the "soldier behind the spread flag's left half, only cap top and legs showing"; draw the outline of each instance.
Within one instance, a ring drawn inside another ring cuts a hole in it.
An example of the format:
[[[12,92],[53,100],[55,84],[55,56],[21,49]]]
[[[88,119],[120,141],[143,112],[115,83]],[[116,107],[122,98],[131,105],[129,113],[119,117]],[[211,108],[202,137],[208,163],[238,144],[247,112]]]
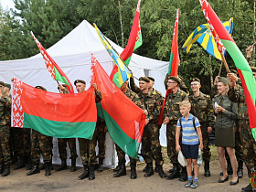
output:
[[[47,91],[42,86],[36,86],[37,89]],[[33,169],[27,172],[27,176],[40,173],[40,154],[43,155],[44,165],[46,166],[45,176],[50,176],[51,158],[52,158],[52,137],[44,135],[32,129],[31,133],[31,156],[33,161]]]

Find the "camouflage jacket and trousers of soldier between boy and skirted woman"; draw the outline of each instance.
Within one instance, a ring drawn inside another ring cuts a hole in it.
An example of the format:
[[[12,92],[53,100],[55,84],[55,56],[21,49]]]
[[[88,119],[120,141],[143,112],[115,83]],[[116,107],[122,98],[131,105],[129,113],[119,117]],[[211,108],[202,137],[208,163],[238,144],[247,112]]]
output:
[[[201,131],[203,136],[203,160],[205,162],[210,161],[210,151],[209,151],[209,133],[208,127],[213,128],[214,124],[214,112],[213,112],[213,105],[210,99],[210,96],[200,92],[198,97],[194,95],[189,96],[189,101],[191,103],[191,110],[190,112],[195,115],[199,123],[201,125]]]

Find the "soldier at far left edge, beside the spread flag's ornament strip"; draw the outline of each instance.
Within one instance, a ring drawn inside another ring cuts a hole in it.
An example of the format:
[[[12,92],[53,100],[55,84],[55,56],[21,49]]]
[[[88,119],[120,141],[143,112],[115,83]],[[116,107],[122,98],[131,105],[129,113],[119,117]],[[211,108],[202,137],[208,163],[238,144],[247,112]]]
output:
[[[11,151],[9,145],[12,100],[4,94],[5,83],[0,81],[0,174],[10,174]]]

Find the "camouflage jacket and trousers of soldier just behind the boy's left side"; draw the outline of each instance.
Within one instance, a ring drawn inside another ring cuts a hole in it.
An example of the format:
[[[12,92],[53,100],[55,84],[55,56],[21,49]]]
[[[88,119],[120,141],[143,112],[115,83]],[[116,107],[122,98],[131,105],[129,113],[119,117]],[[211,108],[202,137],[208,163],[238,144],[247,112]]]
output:
[[[167,155],[169,156],[172,164],[177,164],[176,153],[176,123],[182,117],[179,112],[179,104],[181,101],[188,101],[187,93],[178,90],[175,94],[169,93],[166,98],[164,108],[164,119],[168,117],[170,122],[166,126],[167,137]]]

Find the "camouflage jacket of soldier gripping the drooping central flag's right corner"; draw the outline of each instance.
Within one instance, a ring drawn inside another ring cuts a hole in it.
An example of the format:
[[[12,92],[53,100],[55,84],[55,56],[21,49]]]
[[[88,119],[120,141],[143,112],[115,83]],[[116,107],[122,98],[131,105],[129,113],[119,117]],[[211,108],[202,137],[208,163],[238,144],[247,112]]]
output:
[[[162,108],[161,101],[158,100],[156,92],[148,91],[144,94],[141,91],[138,96],[144,105],[144,109],[148,112],[147,118],[149,123],[156,123]]]

